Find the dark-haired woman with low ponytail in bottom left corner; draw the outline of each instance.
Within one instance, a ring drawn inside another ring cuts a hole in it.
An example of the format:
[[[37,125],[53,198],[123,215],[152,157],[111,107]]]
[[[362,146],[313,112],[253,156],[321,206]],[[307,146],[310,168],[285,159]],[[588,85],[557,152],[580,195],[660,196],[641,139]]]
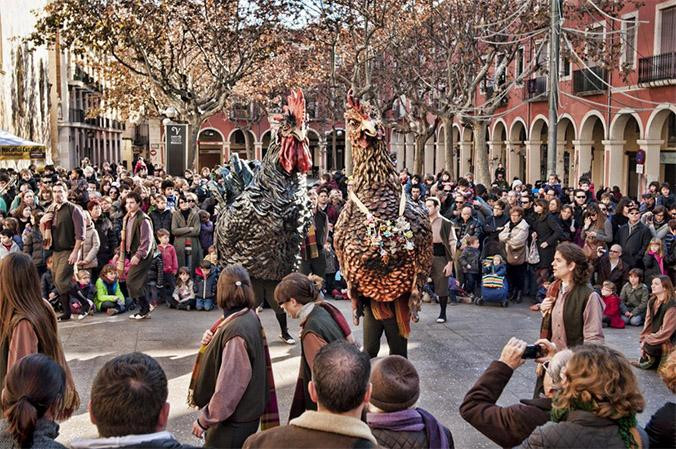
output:
[[[62,409],[66,373],[43,354],[22,358],[7,373],[2,392],[0,448],[65,449],[54,439]]]

